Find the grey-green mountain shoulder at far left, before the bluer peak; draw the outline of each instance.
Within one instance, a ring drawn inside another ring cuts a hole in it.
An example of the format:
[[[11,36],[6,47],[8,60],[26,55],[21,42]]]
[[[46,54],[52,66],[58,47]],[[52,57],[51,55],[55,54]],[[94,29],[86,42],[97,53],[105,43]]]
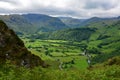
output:
[[[9,28],[13,29],[17,33],[30,33],[35,32],[33,25],[28,22],[22,15],[0,15],[0,19],[3,20]]]

